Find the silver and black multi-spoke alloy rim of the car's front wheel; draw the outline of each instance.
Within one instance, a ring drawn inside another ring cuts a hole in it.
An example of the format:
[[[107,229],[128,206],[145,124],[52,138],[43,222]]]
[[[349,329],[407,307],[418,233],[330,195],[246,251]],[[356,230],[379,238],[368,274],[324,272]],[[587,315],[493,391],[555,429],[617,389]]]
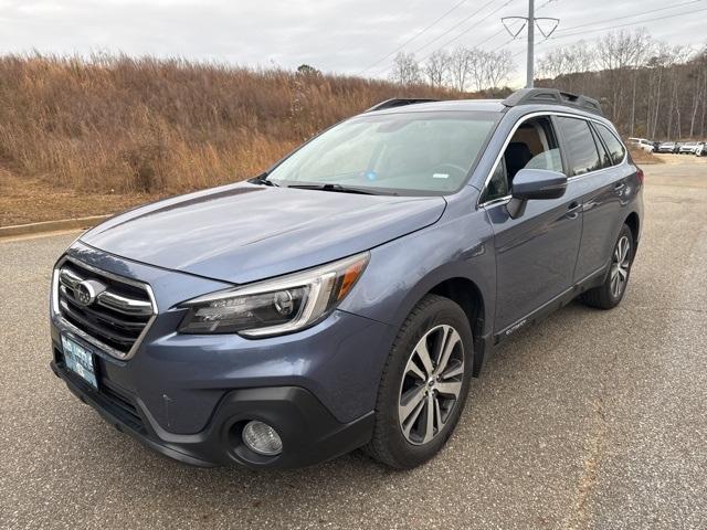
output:
[[[430,329],[413,349],[400,384],[398,417],[408,442],[422,445],[444,428],[460,400],[464,344],[452,326]]]

